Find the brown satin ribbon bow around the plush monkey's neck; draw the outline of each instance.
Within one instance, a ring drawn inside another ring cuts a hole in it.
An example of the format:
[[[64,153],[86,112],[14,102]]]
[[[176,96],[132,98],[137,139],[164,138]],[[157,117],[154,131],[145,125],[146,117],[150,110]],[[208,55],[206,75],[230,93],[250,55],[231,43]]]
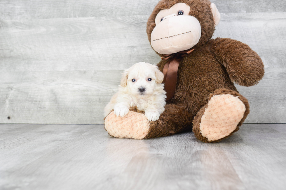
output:
[[[177,52],[175,54],[163,55],[161,57],[162,60],[170,60],[165,64],[163,68],[165,91],[167,93],[167,100],[170,100],[175,95],[176,84],[177,84],[177,72],[179,68],[179,63],[184,56],[187,56],[194,49],[187,49],[181,52]]]

